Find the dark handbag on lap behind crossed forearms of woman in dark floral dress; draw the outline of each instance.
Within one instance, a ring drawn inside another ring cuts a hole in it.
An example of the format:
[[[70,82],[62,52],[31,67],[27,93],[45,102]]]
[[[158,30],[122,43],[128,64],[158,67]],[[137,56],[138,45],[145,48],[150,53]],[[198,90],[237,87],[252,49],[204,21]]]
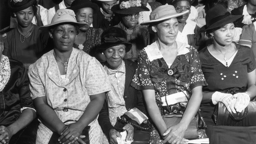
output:
[[[176,89],[179,90],[179,89]],[[179,90],[181,91],[181,90]],[[183,91],[181,91],[183,92]],[[187,100],[189,100],[188,96],[183,92],[186,96]],[[165,95],[166,100],[166,95]],[[186,110],[187,102],[178,102],[174,105],[168,105],[166,100],[167,106],[161,106],[162,113],[168,112],[169,114],[164,113],[165,115],[162,116],[164,122],[167,127],[174,126],[181,121],[183,112]],[[163,109],[165,111],[163,111]],[[198,129],[206,129],[206,123],[201,115],[201,110],[197,111],[196,116],[190,122],[188,128],[185,131],[184,138],[185,139],[197,139],[199,137]]]

